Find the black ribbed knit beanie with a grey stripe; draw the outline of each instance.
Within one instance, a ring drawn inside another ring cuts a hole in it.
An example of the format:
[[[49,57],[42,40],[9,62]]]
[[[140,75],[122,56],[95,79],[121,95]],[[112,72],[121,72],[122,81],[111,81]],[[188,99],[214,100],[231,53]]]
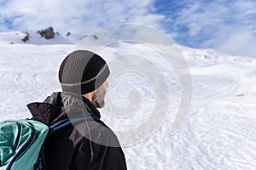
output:
[[[62,61],[59,81],[63,91],[88,94],[99,88],[109,73],[102,57],[90,51],[78,50],[68,54]]]

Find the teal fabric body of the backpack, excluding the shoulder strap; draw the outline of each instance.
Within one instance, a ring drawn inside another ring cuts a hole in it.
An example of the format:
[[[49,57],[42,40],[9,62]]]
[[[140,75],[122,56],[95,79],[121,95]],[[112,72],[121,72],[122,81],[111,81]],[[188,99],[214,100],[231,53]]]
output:
[[[48,131],[28,119],[0,122],[0,170],[33,170]]]

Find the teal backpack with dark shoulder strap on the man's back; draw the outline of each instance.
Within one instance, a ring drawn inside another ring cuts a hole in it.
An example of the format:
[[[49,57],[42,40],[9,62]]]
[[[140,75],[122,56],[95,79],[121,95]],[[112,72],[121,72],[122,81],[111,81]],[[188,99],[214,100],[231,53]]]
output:
[[[85,120],[98,119],[91,113],[85,113],[60,120],[49,127],[30,119],[0,122],[0,170],[46,170],[44,139]]]

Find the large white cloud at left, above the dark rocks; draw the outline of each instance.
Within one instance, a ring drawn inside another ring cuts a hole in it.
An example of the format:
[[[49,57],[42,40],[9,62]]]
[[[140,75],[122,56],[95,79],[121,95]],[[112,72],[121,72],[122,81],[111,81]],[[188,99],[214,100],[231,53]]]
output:
[[[0,7],[0,17],[13,20],[16,29],[33,31],[54,26],[56,31],[88,34],[102,26],[125,22],[160,28],[164,16],[150,14],[153,5],[153,0],[10,0]]]

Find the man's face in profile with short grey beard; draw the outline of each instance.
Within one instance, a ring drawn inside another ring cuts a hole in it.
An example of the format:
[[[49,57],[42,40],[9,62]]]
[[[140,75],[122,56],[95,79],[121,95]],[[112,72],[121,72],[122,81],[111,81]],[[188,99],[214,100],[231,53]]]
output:
[[[94,105],[96,108],[102,108],[105,105],[105,94],[108,88],[108,82],[104,82],[102,86],[98,89],[96,89],[96,94],[94,95],[92,99],[92,105]]]

